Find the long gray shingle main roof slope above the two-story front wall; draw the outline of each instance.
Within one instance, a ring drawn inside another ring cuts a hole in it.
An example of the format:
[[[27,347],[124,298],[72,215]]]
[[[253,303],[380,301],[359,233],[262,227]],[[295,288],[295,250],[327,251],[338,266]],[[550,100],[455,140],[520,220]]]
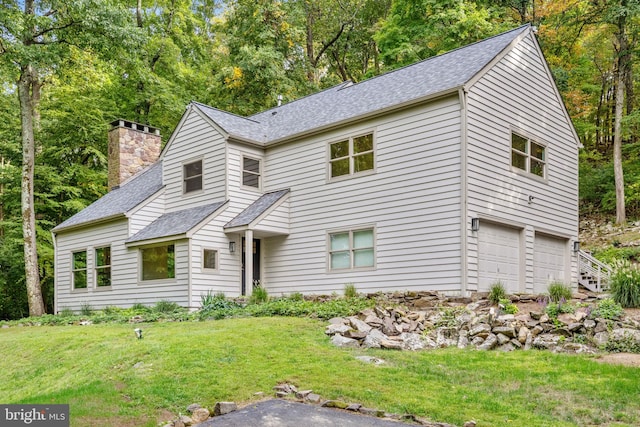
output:
[[[329,125],[457,90],[481,72],[529,25],[390,71],[342,83],[247,118],[193,103],[230,137],[269,144]]]

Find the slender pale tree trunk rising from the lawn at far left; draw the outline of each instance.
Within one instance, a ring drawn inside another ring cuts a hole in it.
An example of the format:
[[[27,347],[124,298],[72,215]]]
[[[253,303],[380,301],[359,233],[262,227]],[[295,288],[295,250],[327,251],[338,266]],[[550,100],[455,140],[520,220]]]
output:
[[[31,65],[23,67],[18,81],[20,120],[22,125],[22,235],[24,238],[24,269],[29,302],[29,315],[42,316],[44,301],[40,288],[38,252],[36,246],[36,216],[33,197],[35,167],[34,118],[40,99],[38,76]],[[35,91],[35,92],[34,92]]]

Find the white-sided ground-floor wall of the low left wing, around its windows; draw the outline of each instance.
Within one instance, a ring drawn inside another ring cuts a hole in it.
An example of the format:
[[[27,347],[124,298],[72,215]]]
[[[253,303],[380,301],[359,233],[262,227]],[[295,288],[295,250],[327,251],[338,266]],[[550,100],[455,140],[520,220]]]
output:
[[[109,305],[130,307],[135,303],[151,305],[160,300],[169,300],[187,305],[186,241],[175,242],[176,279],[163,283],[142,283],[139,277],[137,248],[127,248],[127,221],[118,220],[59,234],[56,238],[56,299],[57,309],[79,310],[83,304],[94,309]],[[97,288],[94,276],[94,250],[111,247],[110,288]],[[87,251],[87,289],[71,289],[71,253]]]

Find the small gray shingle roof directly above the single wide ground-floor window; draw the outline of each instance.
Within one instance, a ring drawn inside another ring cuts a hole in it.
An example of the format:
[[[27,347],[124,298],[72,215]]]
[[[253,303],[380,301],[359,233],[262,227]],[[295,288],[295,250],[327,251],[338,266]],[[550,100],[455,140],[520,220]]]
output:
[[[224,204],[225,202],[217,202],[164,214],[129,237],[126,243],[185,234]]]

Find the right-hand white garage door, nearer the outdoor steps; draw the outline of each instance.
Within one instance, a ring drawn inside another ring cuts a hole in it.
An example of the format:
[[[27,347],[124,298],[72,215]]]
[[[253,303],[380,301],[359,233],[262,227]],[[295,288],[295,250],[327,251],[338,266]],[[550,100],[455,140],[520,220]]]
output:
[[[547,291],[549,283],[566,283],[567,240],[536,233],[533,249],[533,291]]]

